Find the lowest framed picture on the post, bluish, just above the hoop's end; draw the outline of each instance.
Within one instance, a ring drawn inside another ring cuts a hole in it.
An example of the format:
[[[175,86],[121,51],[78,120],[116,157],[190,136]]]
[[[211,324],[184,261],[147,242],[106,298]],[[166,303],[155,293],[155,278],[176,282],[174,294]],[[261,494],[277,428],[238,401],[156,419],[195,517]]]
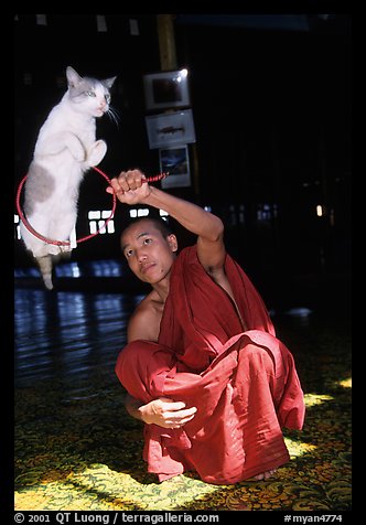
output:
[[[169,173],[161,186],[184,188],[191,185],[190,153],[186,144],[159,150],[160,171]]]

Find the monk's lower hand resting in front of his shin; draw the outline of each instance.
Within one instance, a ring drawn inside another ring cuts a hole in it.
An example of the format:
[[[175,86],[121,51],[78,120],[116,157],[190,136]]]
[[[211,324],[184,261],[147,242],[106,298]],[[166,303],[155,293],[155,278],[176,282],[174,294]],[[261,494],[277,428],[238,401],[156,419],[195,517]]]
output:
[[[139,408],[143,422],[163,428],[181,428],[194,418],[196,407],[185,408],[185,403],[160,397]]]

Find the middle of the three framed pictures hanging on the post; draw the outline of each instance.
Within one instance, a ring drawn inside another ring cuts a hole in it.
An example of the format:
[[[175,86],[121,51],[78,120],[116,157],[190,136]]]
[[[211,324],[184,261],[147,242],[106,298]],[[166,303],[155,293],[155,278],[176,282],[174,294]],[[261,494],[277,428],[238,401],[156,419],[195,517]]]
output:
[[[192,109],[148,115],[144,118],[150,149],[196,141]]]

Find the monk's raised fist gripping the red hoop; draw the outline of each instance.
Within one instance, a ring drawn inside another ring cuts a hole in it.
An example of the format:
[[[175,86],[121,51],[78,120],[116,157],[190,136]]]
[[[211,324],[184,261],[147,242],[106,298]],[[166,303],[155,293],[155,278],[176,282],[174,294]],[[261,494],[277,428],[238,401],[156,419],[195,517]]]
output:
[[[111,179],[107,193],[115,193],[123,204],[139,204],[150,195],[150,185],[144,182],[146,176],[140,170],[122,171]]]

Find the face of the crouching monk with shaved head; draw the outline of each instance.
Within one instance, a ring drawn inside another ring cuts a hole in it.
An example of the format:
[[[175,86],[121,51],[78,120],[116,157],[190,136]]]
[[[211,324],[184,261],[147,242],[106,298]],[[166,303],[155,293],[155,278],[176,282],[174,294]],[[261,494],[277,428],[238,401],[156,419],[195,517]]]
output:
[[[170,275],[177,242],[173,234],[164,237],[147,218],[123,232],[121,248],[133,274],[140,280],[155,285]]]

